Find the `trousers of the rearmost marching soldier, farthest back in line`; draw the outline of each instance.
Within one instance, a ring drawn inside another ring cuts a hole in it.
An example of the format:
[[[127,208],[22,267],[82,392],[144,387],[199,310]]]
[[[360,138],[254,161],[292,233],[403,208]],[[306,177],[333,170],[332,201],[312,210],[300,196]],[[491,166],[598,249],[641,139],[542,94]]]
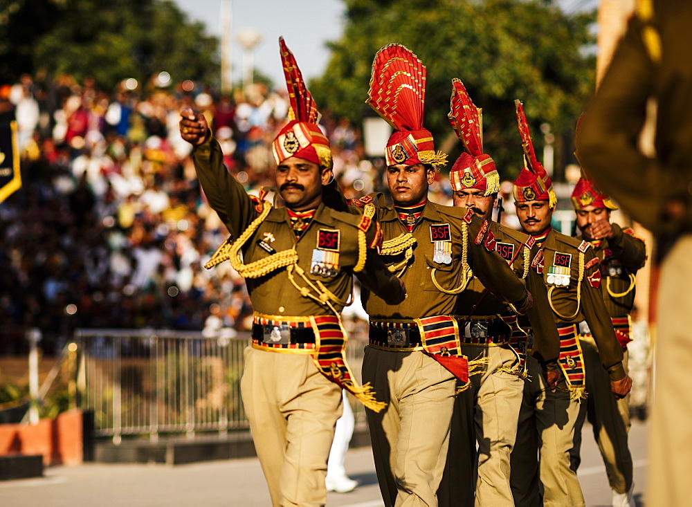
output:
[[[574,432],[572,468],[577,470],[581,463],[581,430],[588,417],[594,430],[594,439],[601,450],[601,457],[608,473],[610,487],[626,493],[632,486],[632,455],[627,443],[630,431],[630,395],[616,400],[610,390],[610,376],[603,369],[599,349],[591,337],[579,338],[586,368],[586,391],[589,397],[582,401],[579,421]],[[622,361],[627,372],[627,351]]]

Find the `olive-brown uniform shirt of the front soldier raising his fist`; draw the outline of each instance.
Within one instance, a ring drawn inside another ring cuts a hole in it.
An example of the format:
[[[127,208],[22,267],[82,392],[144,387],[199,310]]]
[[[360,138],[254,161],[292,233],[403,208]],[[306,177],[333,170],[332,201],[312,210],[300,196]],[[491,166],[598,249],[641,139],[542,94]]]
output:
[[[196,147],[192,154],[197,176],[211,207],[230,232],[237,239],[248,225],[260,214],[257,200],[245,192],[244,188],[224,166],[219,143],[212,139]],[[285,208],[273,208],[266,219],[253,232],[242,248],[244,264],[264,259],[273,252],[295,248],[298,253],[298,266],[311,284],[320,282],[338,299],[345,300],[352,293],[353,268],[358,263],[358,225],[361,217],[337,212],[320,204],[311,219],[307,230],[300,239],[295,238],[288,213]],[[372,221],[365,230],[369,245],[376,234],[376,224]],[[327,276],[311,273],[315,250],[328,252],[322,255],[333,271]],[[294,281],[300,287],[309,286],[302,277],[294,273]],[[376,250],[367,250],[365,268],[358,273],[364,286],[378,291],[389,298],[401,297],[401,286],[382,264]],[[329,306],[304,297],[298,291],[285,268],[274,270],[259,278],[246,279],[253,309],[266,315],[329,315]],[[311,293],[315,294],[314,291]],[[337,311],[343,304],[334,302]]]

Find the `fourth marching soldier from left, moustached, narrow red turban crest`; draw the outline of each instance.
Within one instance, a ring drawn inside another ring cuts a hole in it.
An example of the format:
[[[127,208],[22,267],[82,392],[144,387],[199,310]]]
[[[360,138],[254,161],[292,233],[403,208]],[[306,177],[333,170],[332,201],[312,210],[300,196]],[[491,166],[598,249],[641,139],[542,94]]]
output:
[[[630,391],[632,380],[622,365],[620,346],[601,295],[599,259],[588,241],[580,241],[550,226],[557,203],[552,182],[538,163],[521,102],[516,101],[525,167],[514,182],[516,212],[522,229],[536,244],[531,269],[543,277],[548,302],[560,335],[558,364],[563,380],[555,391],[537,375],[538,363],[529,357],[517,441],[511,455],[511,488],[518,506],[540,505],[538,479],[543,483],[543,504],[583,506],[584,498],[570,463],[580,401],[587,396],[584,360],[576,326],[588,322],[598,345],[610,389],[619,398]],[[540,442],[540,473],[536,451]]]

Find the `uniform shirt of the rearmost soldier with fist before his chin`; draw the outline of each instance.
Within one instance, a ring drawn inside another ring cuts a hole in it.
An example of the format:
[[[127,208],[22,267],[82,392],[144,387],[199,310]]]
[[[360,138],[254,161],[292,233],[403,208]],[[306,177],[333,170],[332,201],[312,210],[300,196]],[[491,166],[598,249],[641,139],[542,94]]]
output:
[[[646,262],[644,240],[633,235],[632,229],[612,224],[614,237],[604,239],[594,252],[601,261],[603,301],[611,317],[629,315],[635,305],[635,274]],[[578,237],[578,239],[582,239]]]

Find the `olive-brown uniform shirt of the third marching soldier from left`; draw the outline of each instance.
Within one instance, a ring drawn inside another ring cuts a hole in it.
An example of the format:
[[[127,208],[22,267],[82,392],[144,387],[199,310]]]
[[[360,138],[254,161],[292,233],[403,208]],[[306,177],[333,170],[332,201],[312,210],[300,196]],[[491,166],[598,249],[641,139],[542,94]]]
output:
[[[549,370],[555,369],[560,353],[560,337],[548,304],[547,288],[543,278],[536,273],[536,270],[530,269],[531,248],[527,246],[530,237],[528,234],[496,222],[490,224],[495,241],[488,241],[484,247],[494,249],[508,264],[511,262],[514,273],[525,280],[529,292],[534,297],[534,307],[525,317],[519,317],[522,328],[527,324],[532,328],[534,342],[531,353],[543,367]],[[513,315],[513,309],[504,299],[493,293],[485,295],[484,293],[486,293],[485,286],[474,275],[464,292],[459,294],[455,314],[468,317],[468,314],[473,311],[473,315]]]

